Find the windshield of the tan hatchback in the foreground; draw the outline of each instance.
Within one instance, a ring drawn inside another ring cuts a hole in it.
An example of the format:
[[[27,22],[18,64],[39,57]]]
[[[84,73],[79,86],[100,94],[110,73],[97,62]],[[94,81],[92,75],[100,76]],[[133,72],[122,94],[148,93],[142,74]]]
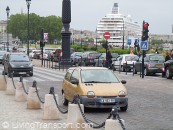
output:
[[[81,70],[83,83],[119,83],[120,81],[111,70],[90,69]]]

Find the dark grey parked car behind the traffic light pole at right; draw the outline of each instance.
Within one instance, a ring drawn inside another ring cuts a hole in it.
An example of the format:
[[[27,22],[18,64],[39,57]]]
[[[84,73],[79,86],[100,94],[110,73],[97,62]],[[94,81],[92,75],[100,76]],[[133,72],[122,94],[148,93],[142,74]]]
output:
[[[144,58],[144,75],[150,75],[155,73],[162,73],[164,67],[165,58],[161,54],[146,54]],[[135,63],[135,74],[140,72],[142,65],[142,57]]]

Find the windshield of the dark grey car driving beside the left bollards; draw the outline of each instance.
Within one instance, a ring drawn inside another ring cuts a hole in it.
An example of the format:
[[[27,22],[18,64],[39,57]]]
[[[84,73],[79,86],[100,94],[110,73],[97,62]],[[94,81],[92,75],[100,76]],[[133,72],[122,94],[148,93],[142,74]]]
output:
[[[28,62],[29,58],[27,55],[11,55],[10,61],[11,62]]]

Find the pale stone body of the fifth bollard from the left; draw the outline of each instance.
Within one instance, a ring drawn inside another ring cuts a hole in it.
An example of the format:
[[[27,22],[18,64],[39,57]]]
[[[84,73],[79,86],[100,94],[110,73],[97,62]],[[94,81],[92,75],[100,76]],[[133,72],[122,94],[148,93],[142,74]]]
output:
[[[58,98],[58,96],[56,95]],[[58,101],[58,99],[57,99]],[[43,111],[43,119],[59,119],[59,111],[55,104],[54,98],[52,94],[45,95],[45,102],[44,102],[44,111]]]

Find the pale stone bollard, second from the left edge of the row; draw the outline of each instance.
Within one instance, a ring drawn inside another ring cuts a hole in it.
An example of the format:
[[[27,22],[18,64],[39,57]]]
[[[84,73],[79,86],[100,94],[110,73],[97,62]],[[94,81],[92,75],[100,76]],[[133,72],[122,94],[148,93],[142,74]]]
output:
[[[10,76],[7,76],[7,87],[6,87],[6,94],[7,95],[15,95],[15,89],[14,89],[14,86],[13,86],[13,81],[12,81],[12,78],[11,78],[11,75]]]

